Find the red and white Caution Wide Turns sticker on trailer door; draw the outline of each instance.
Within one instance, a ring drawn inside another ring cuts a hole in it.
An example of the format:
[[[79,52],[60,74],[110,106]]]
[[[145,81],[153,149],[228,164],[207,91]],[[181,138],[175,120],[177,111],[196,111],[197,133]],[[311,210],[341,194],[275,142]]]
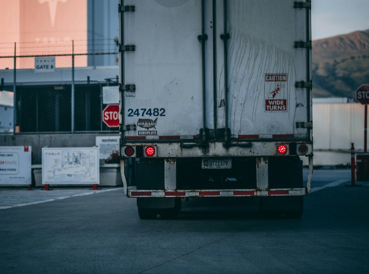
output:
[[[287,74],[265,74],[265,111],[287,112]]]

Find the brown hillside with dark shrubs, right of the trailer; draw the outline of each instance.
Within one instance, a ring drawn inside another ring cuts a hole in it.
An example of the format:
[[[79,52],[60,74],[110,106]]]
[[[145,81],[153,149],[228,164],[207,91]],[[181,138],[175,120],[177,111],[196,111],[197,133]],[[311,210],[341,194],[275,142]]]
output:
[[[369,83],[369,29],[313,41],[313,96],[355,97]]]

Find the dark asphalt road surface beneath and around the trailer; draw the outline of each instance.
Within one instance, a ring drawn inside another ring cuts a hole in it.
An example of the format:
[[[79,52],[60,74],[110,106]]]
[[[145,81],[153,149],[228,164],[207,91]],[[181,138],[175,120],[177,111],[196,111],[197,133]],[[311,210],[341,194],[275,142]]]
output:
[[[369,183],[349,180],[315,171],[300,220],[263,218],[257,198],[191,199],[176,220],[140,220],[121,189],[33,190],[33,202],[0,189],[0,273],[368,273]]]

